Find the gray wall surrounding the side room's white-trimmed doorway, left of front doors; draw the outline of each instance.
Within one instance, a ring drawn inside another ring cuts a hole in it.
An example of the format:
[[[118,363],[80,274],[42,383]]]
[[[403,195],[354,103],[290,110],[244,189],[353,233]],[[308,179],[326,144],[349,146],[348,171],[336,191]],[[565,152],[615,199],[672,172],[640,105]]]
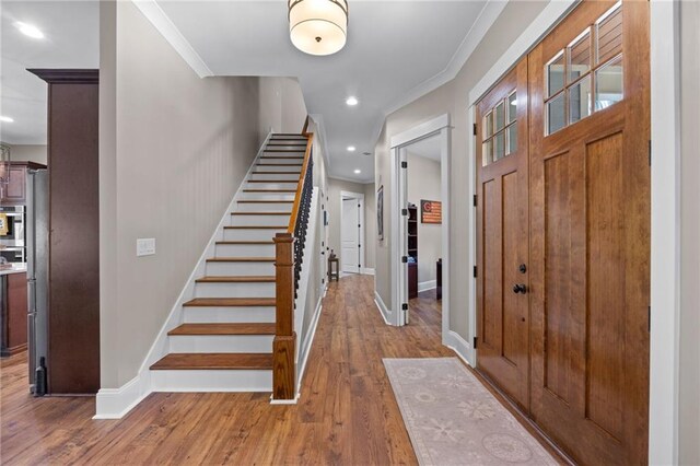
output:
[[[471,225],[467,221],[468,212],[468,159],[467,141],[470,135],[467,128],[467,105],[469,91],[500,59],[501,55],[522,34],[530,22],[547,5],[546,1],[509,2],[493,26],[486,34],[474,54],[469,57],[457,77],[398,109],[386,118],[384,128],[375,147],[375,173],[377,188],[384,185],[384,237],[376,244],[376,290],[389,308],[396,308],[392,302],[392,186],[389,168],[389,145],[393,136],[428,121],[445,113],[452,116],[452,159],[451,159],[451,255],[450,302],[453,308],[450,313],[450,328],[463,338],[468,337],[467,319],[467,283],[470,277],[468,270],[468,249],[465,232]]]

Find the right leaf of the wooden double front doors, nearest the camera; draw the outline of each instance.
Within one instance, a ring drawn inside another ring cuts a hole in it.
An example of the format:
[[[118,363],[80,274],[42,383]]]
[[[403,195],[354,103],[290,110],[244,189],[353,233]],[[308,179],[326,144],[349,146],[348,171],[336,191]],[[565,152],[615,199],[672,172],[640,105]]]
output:
[[[581,464],[649,435],[649,3],[586,1],[528,56],[532,398]]]

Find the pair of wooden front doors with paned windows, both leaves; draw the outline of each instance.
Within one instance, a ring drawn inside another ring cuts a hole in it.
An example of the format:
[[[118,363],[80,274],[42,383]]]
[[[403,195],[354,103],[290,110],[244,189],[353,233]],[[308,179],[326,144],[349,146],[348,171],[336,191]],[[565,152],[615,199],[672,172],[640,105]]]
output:
[[[476,365],[582,464],[648,459],[649,47],[583,2],[476,104]]]

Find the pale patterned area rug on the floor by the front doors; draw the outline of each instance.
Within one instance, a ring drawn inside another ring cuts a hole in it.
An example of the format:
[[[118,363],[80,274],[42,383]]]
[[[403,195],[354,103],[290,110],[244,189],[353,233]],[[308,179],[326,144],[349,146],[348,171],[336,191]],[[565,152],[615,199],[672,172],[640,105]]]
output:
[[[557,465],[456,358],[384,359],[421,465]]]

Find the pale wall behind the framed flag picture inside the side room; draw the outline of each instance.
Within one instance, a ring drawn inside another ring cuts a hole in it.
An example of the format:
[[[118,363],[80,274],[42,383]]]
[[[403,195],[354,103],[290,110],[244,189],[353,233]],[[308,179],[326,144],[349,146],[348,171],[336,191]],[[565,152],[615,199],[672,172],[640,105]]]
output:
[[[418,208],[418,283],[438,279],[435,263],[442,257],[442,224],[422,223],[420,201],[442,201],[440,163],[410,152],[408,147],[408,201]],[[425,286],[425,284],[423,284]]]

